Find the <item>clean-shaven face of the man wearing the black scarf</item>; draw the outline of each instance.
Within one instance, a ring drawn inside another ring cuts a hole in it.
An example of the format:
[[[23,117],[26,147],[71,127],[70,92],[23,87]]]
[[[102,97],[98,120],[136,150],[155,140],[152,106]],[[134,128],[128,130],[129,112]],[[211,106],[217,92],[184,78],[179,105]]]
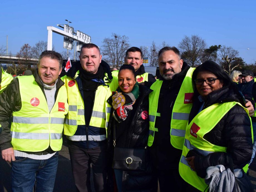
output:
[[[79,59],[82,65],[82,68],[92,74],[97,73],[98,68],[101,63],[100,51],[93,47],[93,48],[83,48],[80,51]]]

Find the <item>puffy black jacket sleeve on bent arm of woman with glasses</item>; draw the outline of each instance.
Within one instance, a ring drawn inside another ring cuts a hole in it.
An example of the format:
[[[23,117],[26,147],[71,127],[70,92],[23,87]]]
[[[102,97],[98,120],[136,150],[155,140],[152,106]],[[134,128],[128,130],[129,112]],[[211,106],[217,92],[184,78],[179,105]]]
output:
[[[221,134],[227,153],[232,156],[234,169],[243,168],[252,157],[252,132],[250,117],[245,110],[239,105],[235,105],[221,119],[216,126],[220,127]],[[196,173],[201,178],[205,178],[206,169],[210,166],[219,164],[228,167],[228,157],[225,152],[214,152],[207,156],[196,156],[194,164]]]

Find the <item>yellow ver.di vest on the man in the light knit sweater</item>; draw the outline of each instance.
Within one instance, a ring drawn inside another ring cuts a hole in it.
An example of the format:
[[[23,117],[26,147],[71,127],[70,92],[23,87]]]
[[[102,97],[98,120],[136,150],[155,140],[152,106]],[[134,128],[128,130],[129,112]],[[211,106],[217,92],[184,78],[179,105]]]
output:
[[[50,145],[60,151],[65,114],[68,112],[67,89],[58,91],[49,112],[46,98],[33,75],[18,77],[21,109],[13,112],[11,144],[19,151],[44,151]]]

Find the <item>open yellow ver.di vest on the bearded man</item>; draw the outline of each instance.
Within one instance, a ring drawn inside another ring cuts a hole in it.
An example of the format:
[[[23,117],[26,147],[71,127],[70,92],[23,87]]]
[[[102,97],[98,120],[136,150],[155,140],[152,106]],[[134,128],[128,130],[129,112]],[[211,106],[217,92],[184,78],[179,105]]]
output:
[[[195,68],[189,68],[186,76],[181,84],[178,96],[174,102],[172,118],[171,118],[171,144],[177,149],[183,148],[185,129],[188,122],[190,110],[192,108],[193,86],[192,86],[192,74]],[[158,128],[155,127],[156,117],[161,116],[157,113],[159,93],[163,81],[156,80],[150,89],[153,92],[149,93],[149,138],[147,145],[152,146],[154,142],[155,131],[158,132]],[[171,90],[170,90],[171,91]]]

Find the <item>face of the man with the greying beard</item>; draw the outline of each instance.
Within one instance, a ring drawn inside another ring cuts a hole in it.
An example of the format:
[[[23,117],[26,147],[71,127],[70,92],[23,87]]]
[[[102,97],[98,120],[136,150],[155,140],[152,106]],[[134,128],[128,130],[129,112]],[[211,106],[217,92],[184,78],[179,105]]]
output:
[[[171,80],[173,75],[181,72],[183,60],[174,51],[164,51],[158,58],[159,72],[165,80]]]

